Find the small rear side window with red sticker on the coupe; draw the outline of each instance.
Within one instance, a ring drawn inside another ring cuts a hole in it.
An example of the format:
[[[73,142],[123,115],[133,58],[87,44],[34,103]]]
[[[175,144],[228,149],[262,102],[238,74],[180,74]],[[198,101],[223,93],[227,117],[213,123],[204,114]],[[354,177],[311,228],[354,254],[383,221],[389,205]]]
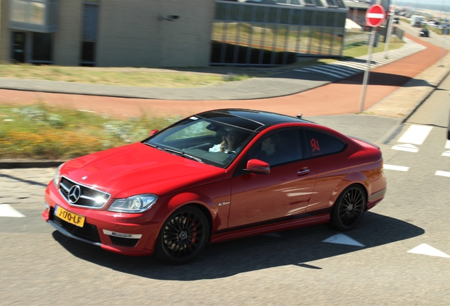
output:
[[[306,147],[311,157],[340,152],[345,147],[345,143],[337,138],[317,130],[305,130],[305,136]]]

